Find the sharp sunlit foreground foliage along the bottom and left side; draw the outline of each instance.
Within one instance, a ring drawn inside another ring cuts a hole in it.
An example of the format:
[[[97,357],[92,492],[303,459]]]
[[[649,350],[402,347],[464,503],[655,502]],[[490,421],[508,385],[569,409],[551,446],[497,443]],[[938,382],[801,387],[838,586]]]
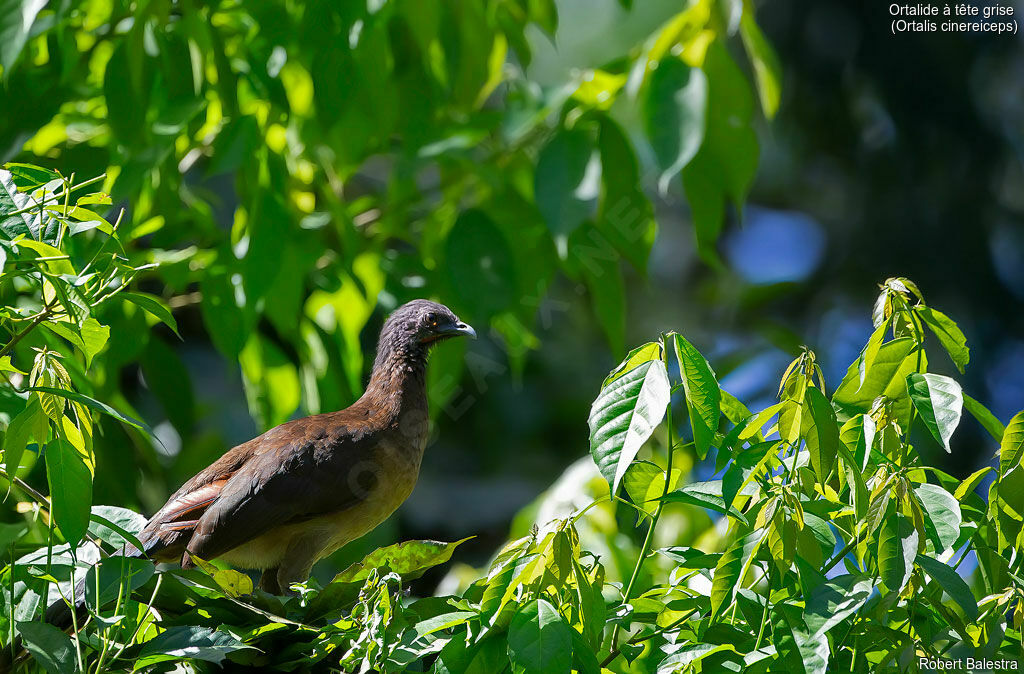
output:
[[[45,448],[49,499],[19,487],[35,499],[32,519],[55,524],[46,539],[23,539],[31,551],[0,574],[0,633],[8,646],[20,639],[27,666],[187,661],[203,670],[226,659],[289,671],[867,672],[920,655],[1020,652],[1024,412],[1004,428],[954,379],[928,371],[926,330],[957,369],[969,351],[955,323],[906,279],[882,287],[874,332],[830,397],[807,349],[783,374],[779,402],[757,413],[720,388],[680,334],[631,351],[591,412],[603,479],[571,469],[514,526],[526,531],[457,593],[411,598],[403,588],[462,542],[382,548],[323,587],[296,586],[294,597],[207,562],[167,571],[112,555],[144,520],[89,509],[93,415],[144,427],[76,384],[108,337],[94,318],[108,302],[172,328],[173,319],[156,298],[124,290],[144,269],[106,252],[120,227],[85,208],[105,197],[83,195],[73,207],[71,179],[11,169],[27,192],[8,193],[24,212],[3,226],[26,231],[5,229],[4,250],[24,301],[5,318],[25,326],[17,341],[50,344],[31,372],[3,354],[22,404],[5,465]],[[48,209],[48,199],[60,207]],[[924,465],[919,447],[948,451],[964,409],[1001,445],[997,468],[961,482]],[[705,457],[717,477],[693,481]],[[989,473],[986,502],[976,490]],[[631,512],[644,531],[639,549],[624,537]],[[957,570],[971,556],[978,573],[965,578]],[[71,596],[83,574],[86,622],[71,636],[41,623],[49,598]]]

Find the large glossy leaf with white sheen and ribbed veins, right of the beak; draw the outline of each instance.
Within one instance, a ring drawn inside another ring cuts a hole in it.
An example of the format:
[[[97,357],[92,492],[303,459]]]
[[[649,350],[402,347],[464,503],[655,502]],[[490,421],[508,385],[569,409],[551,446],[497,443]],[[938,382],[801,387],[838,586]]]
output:
[[[637,452],[668,410],[669,374],[662,361],[648,361],[603,388],[590,410],[590,453],[611,486],[626,474]]]

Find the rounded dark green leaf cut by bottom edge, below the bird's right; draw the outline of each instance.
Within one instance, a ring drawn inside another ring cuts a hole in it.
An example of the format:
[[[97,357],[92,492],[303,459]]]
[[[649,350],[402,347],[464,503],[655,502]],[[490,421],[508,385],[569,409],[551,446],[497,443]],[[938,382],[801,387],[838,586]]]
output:
[[[536,599],[512,619],[509,655],[525,674],[568,674],[572,666],[572,635],[558,609]]]

